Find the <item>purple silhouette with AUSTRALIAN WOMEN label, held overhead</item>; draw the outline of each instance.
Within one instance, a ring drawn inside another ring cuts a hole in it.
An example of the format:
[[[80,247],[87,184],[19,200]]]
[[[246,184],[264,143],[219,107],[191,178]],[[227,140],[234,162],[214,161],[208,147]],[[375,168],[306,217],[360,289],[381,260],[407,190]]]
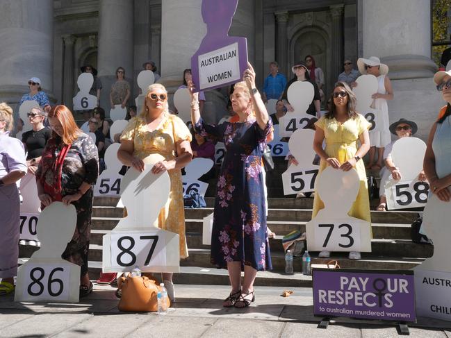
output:
[[[229,36],[238,0],[203,0],[207,32],[191,58],[195,92],[237,83],[247,69],[245,37]]]

